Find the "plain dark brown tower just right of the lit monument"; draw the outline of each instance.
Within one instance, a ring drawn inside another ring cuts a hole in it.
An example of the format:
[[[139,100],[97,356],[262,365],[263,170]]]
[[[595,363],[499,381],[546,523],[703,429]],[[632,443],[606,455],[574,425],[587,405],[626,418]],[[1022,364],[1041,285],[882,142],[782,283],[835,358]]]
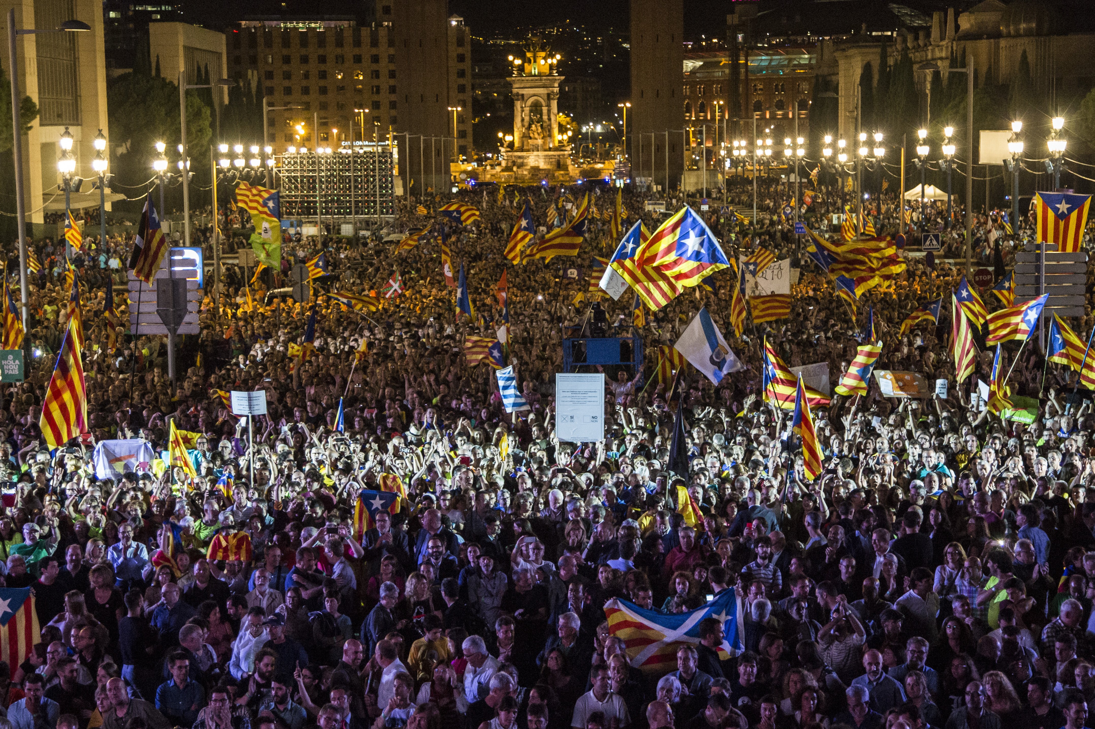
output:
[[[683,0],[631,0],[632,176],[675,188],[683,169]]]

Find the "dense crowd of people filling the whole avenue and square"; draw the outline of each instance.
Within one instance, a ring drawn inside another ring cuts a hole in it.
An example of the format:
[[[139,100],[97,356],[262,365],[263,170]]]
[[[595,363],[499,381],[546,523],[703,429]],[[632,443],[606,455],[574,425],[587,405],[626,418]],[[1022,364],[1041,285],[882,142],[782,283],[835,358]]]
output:
[[[506,260],[526,201],[548,227],[549,210],[565,219],[587,192],[597,212],[577,257]],[[759,192],[756,222],[745,211],[751,181],[713,193],[702,212],[728,257],[764,247],[797,271],[791,316],[740,337],[729,270],[713,290],[689,290],[638,321],[630,292],[613,301],[595,291],[595,257],[616,245],[604,214],[614,190],[473,188],[454,196],[479,208],[468,226],[437,216],[448,196],[401,201],[387,232],[434,221],[408,250],[380,235],[287,238],[280,270],[226,267],[220,298],[206,287],[201,333],[181,342],[176,383],[163,338],[112,332],[105,316],[106,287],[116,286],[128,321],[131,240],[89,236],[71,260],[90,433],[55,451],[38,421],[71,284],[64,244],[34,242],[33,356],[0,410],[0,580],[33,589],[41,635],[21,663],[0,662],[7,722],[1083,729],[1095,696],[1090,393],[1037,346],[1010,343],[1014,392],[1038,404],[1033,422],[1001,420],[971,397],[991,352],[955,381],[948,306],[900,331],[965,273],[952,258],[965,246],[960,225],[938,209],[924,225],[945,234],[944,250],[924,257],[907,246],[907,270],[854,311],[794,235],[785,188],[765,180]],[[624,188],[624,225],[642,216],[654,231],[661,219],[645,202],[655,197]],[[700,207],[695,195],[666,202],[670,212]],[[880,202],[875,228],[912,239],[892,193]],[[819,188],[798,214],[839,235],[840,210],[840,193]],[[989,211],[976,220],[976,266],[998,279],[1033,235],[1015,223],[1013,235]],[[231,221],[222,230],[226,252],[247,245]],[[458,315],[446,282],[440,230],[453,270],[464,266],[471,316]],[[327,272],[313,301],[285,296],[290,264],[321,252]],[[324,291],[371,292],[379,307],[350,309]],[[990,310],[1001,306],[987,287],[981,295]],[[583,331],[595,301],[604,333],[642,338],[645,367],[606,368],[603,440],[560,442],[553,375],[563,338]],[[685,365],[670,392],[658,348],[703,305],[746,369],[714,386]],[[762,397],[761,343],[792,367],[828,363],[835,383],[868,309],[879,369],[949,387],[923,400],[883,397],[875,383],[866,396],[834,396],[815,413],[823,473],[808,480],[788,413]],[[300,350],[313,314],[314,339]],[[1086,336],[1093,318],[1074,325]],[[506,413],[494,369],[469,365],[468,337],[505,340],[530,410]],[[978,341],[984,350],[983,333]],[[266,393],[251,437],[217,392],[228,390]],[[669,470],[677,409],[687,472]],[[160,454],[172,426],[193,436],[196,475],[161,459],[115,478],[96,471],[96,443],[141,438]],[[362,490],[402,495],[370,512]],[[699,518],[687,519],[692,505]],[[739,619],[703,620],[699,642],[682,640],[665,674],[635,666],[634,640],[606,621],[606,602],[620,599],[679,625],[676,615],[726,590]]]

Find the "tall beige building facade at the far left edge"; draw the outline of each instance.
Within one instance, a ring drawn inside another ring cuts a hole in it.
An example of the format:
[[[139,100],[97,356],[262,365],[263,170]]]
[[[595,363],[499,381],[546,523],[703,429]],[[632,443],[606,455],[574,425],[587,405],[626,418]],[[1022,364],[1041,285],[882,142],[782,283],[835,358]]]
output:
[[[95,0],[0,0],[4,15],[12,8],[19,30],[56,28],[68,20],[91,27],[90,33],[28,34],[15,40],[19,95],[30,96],[38,105],[38,118],[23,137],[23,189],[26,209],[33,211],[27,222],[41,224],[44,212],[65,209],[64,196],[57,195],[59,140],[65,130],[72,134],[74,174],[81,178],[95,174],[91,168],[95,136],[100,130],[110,134],[103,5]],[[99,207],[99,193],[91,191],[90,184],[71,197],[73,208]]]

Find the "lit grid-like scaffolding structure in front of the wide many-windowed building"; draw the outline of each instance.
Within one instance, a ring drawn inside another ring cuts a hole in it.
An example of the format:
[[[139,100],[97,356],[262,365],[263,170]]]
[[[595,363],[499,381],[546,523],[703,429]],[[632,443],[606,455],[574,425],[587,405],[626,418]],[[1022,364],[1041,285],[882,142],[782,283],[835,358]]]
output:
[[[332,151],[281,156],[284,219],[365,220],[395,214],[395,153],[387,143],[354,142]]]

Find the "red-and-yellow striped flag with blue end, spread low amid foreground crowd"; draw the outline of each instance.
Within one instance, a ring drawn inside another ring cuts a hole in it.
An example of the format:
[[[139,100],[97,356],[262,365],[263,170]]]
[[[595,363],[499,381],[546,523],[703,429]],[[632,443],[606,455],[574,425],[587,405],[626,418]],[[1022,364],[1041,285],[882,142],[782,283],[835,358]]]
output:
[[[673,670],[677,650],[682,645],[700,643],[700,623],[706,618],[723,623],[723,643],[717,648],[719,660],[733,658],[744,649],[744,610],[733,589],[696,610],[668,614],[613,598],[604,603],[604,616],[609,633],[623,640],[631,665],[652,675]]]

